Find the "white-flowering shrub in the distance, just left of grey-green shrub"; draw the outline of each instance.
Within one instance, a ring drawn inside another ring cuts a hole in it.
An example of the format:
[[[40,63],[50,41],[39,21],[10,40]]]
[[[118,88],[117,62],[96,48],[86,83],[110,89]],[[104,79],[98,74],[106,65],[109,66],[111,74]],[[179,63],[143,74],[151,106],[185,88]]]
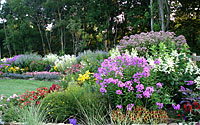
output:
[[[55,61],[55,66],[57,67],[58,71],[64,72],[65,70],[70,68],[71,65],[76,63],[77,63],[76,56],[64,55],[58,57],[58,59]]]

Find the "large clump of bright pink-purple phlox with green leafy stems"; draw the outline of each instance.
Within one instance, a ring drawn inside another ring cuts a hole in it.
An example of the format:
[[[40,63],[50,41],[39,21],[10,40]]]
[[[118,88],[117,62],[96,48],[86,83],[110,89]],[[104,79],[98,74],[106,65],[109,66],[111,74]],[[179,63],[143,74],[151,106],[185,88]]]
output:
[[[159,65],[158,61],[155,61]],[[131,110],[130,105],[148,109],[161,109],[169,104],[169,97],[162,91],[160,83],[152,72],[152,66],[144,57],[127,54],[105,59],[94,73],[100,92],[108,95],[111,105]],[[156,104],[160,105],[156,105]],[[162,106],[161,106],[162,105]]]

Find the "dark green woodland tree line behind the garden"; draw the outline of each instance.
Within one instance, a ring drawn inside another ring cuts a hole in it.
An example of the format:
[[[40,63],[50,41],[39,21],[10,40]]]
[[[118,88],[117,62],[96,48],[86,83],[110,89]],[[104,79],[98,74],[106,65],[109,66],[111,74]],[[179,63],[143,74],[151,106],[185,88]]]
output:
[[[160,30],[200,53],[199,12],[199,0],[6,0],[0,55],[109,50],[125,35]]]

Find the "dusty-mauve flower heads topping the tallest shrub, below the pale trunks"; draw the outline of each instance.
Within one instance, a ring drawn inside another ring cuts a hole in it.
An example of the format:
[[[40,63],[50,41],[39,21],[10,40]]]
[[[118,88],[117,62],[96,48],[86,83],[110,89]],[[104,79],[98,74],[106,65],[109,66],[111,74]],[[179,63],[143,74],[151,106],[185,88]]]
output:
[[[138,51],[139,56],[144,56],[149,53],[152,49],[158,49],[158,44],[162,42],[168,50],[177,49],[179,52],[184,51],[187,48],[186,39],[184,36],[175,36],[173,32],[148,32],[136,35],[131,35],[130,37],[124,36],[120,41],[118,46],[119,50],[124,52],[128,49],[131,51],[135,48]]]

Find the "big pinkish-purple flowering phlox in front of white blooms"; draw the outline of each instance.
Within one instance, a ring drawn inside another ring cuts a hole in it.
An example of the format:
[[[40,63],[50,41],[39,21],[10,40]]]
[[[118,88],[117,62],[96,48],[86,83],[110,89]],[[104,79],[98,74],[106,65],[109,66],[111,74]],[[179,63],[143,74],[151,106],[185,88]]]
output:
[[[155,89],[162,88],[162,83],[152,81],[150,74],[151,66],[145,58],[122,54],[105,59],[94,77],[101,86],[100,92],[110,95],[117,108],[123,100],[125,103],[122,106],[128,105],[127,109],[130,110],[135,99],[148,99],[155,93]],[[152,81],[151,84],[148,83],[148,78]]]

